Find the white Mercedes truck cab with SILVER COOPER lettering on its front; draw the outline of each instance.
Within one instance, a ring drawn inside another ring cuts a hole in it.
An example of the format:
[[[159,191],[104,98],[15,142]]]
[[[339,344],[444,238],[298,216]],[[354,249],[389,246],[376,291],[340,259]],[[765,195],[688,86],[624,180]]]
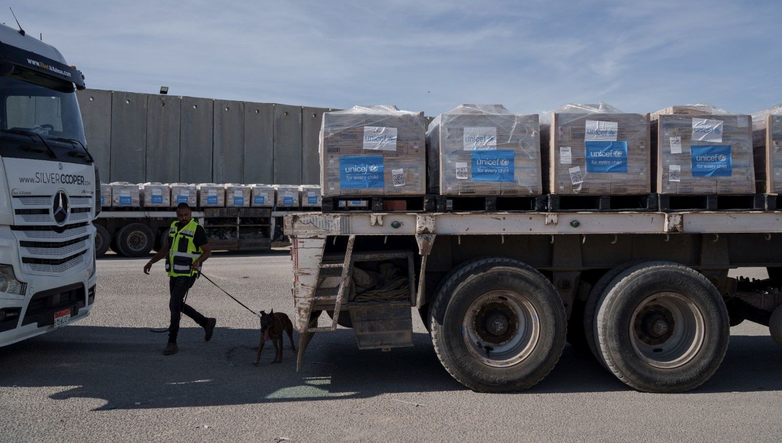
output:
[[[99,177],[76,89],[84,77],[56,48],[0,25],[0,346],[95,301]]]

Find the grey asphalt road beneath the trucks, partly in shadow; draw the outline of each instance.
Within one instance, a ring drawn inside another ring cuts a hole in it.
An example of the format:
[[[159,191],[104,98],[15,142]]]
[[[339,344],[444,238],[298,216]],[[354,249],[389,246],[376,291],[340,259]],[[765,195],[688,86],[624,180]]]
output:
[[[100,260],[91,316],[0,348],[0,441],[782,440],[782,348],[755,323],[686,394],[633,391],[572,348],[529,391],[478,394],[443,370],[416,316],[412,348],[359,351],[341,329],[314,337],[299,373],[289,348],[269,364],[271,345],[253,366],[256,317],[203,279],[188,302],[217,317],[214,338],[183,318],[180,352],[163,356],[149,328],[167,327],[167,280],[144,263]],[[205,272],[255,309],[292,312],[287,252],[218,254]]]

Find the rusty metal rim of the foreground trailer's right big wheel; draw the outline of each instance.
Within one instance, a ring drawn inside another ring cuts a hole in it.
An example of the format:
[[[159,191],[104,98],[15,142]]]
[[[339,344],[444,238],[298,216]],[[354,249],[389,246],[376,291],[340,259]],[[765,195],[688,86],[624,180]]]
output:
[[[671,369],[689,362],[704,343],[704,317],[677,292],[650,295],[630,319],[630,342],[645,363]]]

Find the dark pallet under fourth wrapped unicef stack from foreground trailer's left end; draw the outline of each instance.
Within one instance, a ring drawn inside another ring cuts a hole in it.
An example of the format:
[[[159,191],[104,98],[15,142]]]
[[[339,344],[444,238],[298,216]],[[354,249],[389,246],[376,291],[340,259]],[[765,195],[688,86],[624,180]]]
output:
[[[660,194],[660,211],[774,211],[776,194],[680,195]]]

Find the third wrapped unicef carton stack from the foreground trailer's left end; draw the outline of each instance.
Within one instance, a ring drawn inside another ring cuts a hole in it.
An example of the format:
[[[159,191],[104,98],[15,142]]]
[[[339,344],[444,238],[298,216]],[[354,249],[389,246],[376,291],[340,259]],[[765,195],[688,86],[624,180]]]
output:
[[[651,192],[649,118],[611,105],[570,104],[551,113],[548,192],[631,195]]]

